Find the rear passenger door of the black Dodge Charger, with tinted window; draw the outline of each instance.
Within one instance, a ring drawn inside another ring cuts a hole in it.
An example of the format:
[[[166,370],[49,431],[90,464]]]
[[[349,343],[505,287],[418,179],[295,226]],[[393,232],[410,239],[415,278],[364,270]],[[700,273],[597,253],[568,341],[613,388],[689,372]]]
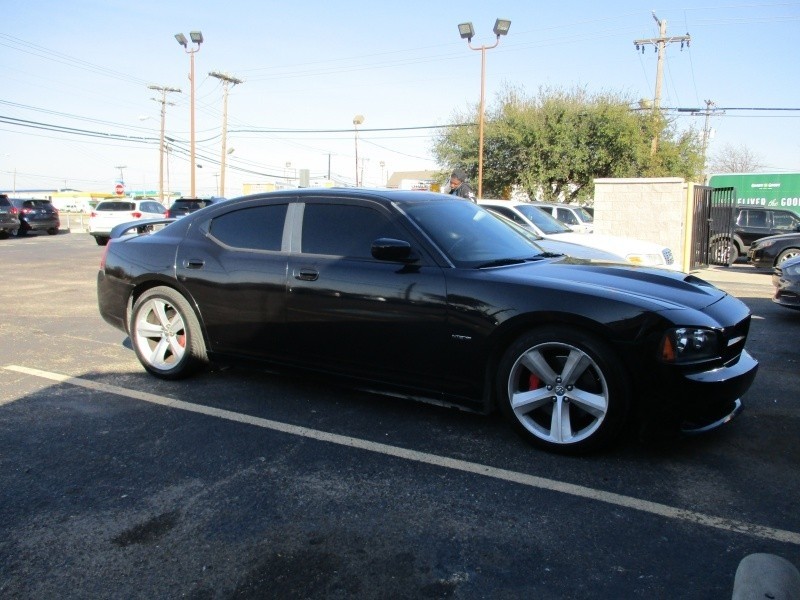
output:
[[[199,309],[211,351],[285,354],[287,206],[255,201],[218,211],[193,223],[178,247],[176,274]]]

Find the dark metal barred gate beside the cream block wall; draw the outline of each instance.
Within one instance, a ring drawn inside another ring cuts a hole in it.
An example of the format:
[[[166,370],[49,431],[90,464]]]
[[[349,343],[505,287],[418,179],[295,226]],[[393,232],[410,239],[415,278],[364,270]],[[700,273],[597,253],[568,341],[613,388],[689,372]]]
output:
[[[736,190],[695,186],[691,269],[707,265],[732,265],[737,258],[733,244]]]

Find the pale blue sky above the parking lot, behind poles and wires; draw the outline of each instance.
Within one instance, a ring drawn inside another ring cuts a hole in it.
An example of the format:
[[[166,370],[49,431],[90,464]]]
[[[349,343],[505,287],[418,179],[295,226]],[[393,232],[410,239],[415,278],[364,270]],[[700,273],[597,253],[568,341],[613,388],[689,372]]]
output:
[[[219,172],[223,93],[212,71],[244,80],[229,95],[228,196],[241,193],[244,182],[264,181],[265,173],[307,168],[324,175],[329,160],[334,174],[352,181],[356,114],[364,116],[359,157],[366,159],[366,185],[394,171],[437,168],[431,130],[402,128],[448,123],[477,104],[480,53],[459,38],[464,21],[473,22],[477,45],[494,41],[495,18],[512,21],[509,35],[486,55],[488,102],[504,86],[530,95],[540,86],[583,86],[652,98],[656,54],[652,46],[637,52],[633,40],[658,35],[655,11],[669,35],[692,37],[689,48],[668,46],[662,106],[705,107],[712,100],[718,107],[800,107],[800,2],[4,4],[0,189],[110,189],[120,165],[128,189],[157,189],[160,105],[147,86],[158,85],[182,89],[168,97],[175,105],[167,108],[166,132],[182,141],[169,161],[170,187],[188,193],[181,149],[189,139],[190,61],[174,35],[192,30],[205,37],[195,55],[200,194],[215,191]],[[702,130],[703,118],[684,113],[677,124]],[[711,126],[710,154],[726,144],[746,146],[767,170],[800,171],[800,112],[728,111]]]

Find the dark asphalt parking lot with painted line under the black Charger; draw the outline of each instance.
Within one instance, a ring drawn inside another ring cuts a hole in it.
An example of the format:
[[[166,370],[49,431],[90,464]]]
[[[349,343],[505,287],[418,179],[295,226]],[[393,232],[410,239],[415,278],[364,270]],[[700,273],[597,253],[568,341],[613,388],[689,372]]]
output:
[[[0,241],[0,595],[726,598],[800,566],[800,311],[747,265],[761,367],[714,434],[568,458],[497,416],[229,369],[147,375],[85,233]]]

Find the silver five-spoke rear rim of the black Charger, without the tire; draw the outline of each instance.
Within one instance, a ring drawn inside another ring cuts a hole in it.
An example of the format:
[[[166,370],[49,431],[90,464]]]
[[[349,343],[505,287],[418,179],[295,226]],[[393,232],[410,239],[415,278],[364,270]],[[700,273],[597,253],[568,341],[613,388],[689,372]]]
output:
[[[132,337],[139,355],[156,369],[177,367],[186,352],[183,316],[163,298],[151,298],[139,308]]]

